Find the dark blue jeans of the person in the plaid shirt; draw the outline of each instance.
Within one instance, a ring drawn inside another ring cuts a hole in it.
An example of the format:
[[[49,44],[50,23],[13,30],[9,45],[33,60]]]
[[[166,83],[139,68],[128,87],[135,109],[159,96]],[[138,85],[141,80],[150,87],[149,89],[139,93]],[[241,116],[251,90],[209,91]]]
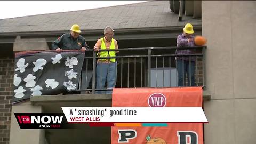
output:
[[[187,73],[188,86],[195,86],[195,61],[184,60],[184,69],[183,69],[183,60],[177,60],[177,71],[178,71],[178,86],[185,86],[183,84],[183,79],[185,81],[185,74]],[[190,85],[190,74],[191,74],[191,85]]]

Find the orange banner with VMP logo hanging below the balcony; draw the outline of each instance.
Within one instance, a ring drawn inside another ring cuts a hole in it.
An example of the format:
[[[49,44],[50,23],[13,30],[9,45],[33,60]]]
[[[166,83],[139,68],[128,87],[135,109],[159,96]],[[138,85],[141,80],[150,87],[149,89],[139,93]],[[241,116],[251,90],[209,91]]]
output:
[[[202,107],[202,87],[114,89],[113,107]],[[170,115],[166,115],[169,117]],[[154,117],[154,115],[148,116]],[[163,117],[164,118],[164,117]],[[111,127],[111,143],[203,144],[202,123]]]

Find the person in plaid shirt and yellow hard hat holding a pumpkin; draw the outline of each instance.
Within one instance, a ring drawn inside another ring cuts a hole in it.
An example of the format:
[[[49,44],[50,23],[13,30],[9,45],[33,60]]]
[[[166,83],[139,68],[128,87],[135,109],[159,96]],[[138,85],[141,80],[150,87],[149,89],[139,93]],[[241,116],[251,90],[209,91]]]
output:
[[[183,34],[177,37],[177,55],[195,54],[191,49],[181,49],[179,47],[194,47],[194,34],[193,26],[187,23],[183,28]],[[179,56],[175,57],[177,61],[176,67],[178,71],[178,86],[185,86],[185,75],[187,73],[188,86],[195,86],[195,61],[196,57],[192,56]]]

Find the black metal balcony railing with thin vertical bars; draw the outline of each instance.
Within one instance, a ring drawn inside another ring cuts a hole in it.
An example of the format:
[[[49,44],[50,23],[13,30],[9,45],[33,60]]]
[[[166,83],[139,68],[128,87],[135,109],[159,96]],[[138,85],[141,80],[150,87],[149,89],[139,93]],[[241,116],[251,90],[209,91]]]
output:
[[[176,50],[190,49],[193,54],[176,55]],[[206,47],[140,47],[126,48],[118,50],[100,50],[100,51],[119,51],[117,60],[117,81],[116,87],[179,87],[177,61],[175,57],[188,57],[189,72],[191,71],[191,58],[195,58],[195,84],[194,86],[205,85],[205,58],[204,51]],[[83,63],[83,70],[78,84],[77,91],[109,91],[111,88],[96,89],[96,67],[97,52],[86,50]],[[182,60],[184,64],[184,60]],[[184,65],[183,65],[184,66]],[[191,74],[185,78],[183,71],[183,83],[181,86],[191,85]]]

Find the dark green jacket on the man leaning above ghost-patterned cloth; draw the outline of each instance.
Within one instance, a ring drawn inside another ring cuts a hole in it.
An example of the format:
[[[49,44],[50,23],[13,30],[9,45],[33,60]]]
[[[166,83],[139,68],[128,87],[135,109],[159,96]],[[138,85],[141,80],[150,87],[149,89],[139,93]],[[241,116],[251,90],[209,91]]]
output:
[[[70,33],[63,34],[52,42],[52,50],[56,50],[58,47],[62,50],[80,50],[81,47],[90,49],[81,35],[73,39]]]

